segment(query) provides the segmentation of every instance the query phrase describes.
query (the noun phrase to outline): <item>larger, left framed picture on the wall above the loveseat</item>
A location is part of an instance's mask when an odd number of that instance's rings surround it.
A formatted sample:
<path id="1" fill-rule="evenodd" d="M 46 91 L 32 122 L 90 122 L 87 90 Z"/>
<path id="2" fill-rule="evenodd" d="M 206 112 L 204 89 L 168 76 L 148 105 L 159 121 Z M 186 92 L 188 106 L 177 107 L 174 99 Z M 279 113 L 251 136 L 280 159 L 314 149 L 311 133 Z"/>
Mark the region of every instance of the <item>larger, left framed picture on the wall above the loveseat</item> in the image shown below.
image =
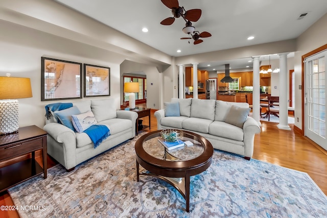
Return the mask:
<path id="1" fill-rule="evenodd" d="M 82 98 L 82 63 L 41 57 L 41 101 Z"/>

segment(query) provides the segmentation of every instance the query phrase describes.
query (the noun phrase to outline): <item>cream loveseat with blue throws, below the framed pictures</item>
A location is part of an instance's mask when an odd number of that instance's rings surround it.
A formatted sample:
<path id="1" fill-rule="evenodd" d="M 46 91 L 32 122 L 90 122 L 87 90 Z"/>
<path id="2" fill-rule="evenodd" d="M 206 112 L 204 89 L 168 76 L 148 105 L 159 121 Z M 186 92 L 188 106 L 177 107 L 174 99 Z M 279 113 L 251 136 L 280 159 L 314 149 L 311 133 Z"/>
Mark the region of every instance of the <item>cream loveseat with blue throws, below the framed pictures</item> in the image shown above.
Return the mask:
<path id="1" fill-rule="evenodd" d="M 71 171 L 75 169 L 76 165 L 133 138 L 137 113 L 116 111 L 114 105 L 114 99 L 86 100 L 73 103 L 73 106 L 77 107 L 80 113 L 91 111 L 97 124 L 103 124 L 109 128 L 110 136 L 96 148 L 86 133 L 75 132 L 71 128 L 55 122 L 52 115 L 50 120 L 46 120 L 43 127 L 49 134 L 48 154 L 68 171 Z"/>

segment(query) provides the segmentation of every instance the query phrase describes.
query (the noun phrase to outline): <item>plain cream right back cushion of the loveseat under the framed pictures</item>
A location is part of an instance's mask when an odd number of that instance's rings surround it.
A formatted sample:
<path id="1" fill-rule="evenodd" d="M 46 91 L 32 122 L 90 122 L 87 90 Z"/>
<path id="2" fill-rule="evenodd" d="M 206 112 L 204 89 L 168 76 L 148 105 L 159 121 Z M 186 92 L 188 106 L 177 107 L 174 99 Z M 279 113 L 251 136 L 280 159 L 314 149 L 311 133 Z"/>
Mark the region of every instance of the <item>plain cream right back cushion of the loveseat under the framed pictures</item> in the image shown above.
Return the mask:
<path id="1" fill-rule="evenodd" d="M 92 100 L 91 109 L 97 121 L 116 118 L 116 107 L 114 99 Z"/>

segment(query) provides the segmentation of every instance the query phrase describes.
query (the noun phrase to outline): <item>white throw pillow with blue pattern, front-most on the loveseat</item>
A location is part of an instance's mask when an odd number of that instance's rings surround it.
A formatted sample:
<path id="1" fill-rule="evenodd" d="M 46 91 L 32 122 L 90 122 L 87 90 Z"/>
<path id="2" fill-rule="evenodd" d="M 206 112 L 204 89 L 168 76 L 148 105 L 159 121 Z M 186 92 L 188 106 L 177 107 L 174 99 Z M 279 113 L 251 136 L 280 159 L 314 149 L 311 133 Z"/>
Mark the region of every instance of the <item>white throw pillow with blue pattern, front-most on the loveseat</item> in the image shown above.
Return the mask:
<path id="1" fill-rule="evenodd" d="M 78 133 L 82 133 L 84 132 L 85 129 L 88 129 L 91 125 L 97 124 L 97 120 L 91 111 L 78 115 L 72 115 L 72 122 L 74 128 Z"/>

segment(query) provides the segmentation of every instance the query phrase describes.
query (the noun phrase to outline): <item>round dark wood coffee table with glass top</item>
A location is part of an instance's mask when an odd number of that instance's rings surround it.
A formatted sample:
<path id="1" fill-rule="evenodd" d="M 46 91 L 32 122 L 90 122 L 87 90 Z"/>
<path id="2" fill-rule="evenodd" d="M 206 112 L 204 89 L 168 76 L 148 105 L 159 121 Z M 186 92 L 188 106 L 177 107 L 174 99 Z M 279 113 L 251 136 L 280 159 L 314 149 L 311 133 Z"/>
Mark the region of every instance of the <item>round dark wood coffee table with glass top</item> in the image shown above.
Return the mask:
<path id="1" fill-rule="evenodd" d="M 136 176 L 148 175 L 164 180 L 175 187 L 186 201 L 190 211 L 190 177 L 206 170 L 212 163 L 214 148 L 204 137 L 183 131 L 183 141 L 194 145 L 168 150 L 162 145 L 161 130 L 140 137 L 135 143 Z M 139 164 L 145 169 L 139 172 Z"/>

